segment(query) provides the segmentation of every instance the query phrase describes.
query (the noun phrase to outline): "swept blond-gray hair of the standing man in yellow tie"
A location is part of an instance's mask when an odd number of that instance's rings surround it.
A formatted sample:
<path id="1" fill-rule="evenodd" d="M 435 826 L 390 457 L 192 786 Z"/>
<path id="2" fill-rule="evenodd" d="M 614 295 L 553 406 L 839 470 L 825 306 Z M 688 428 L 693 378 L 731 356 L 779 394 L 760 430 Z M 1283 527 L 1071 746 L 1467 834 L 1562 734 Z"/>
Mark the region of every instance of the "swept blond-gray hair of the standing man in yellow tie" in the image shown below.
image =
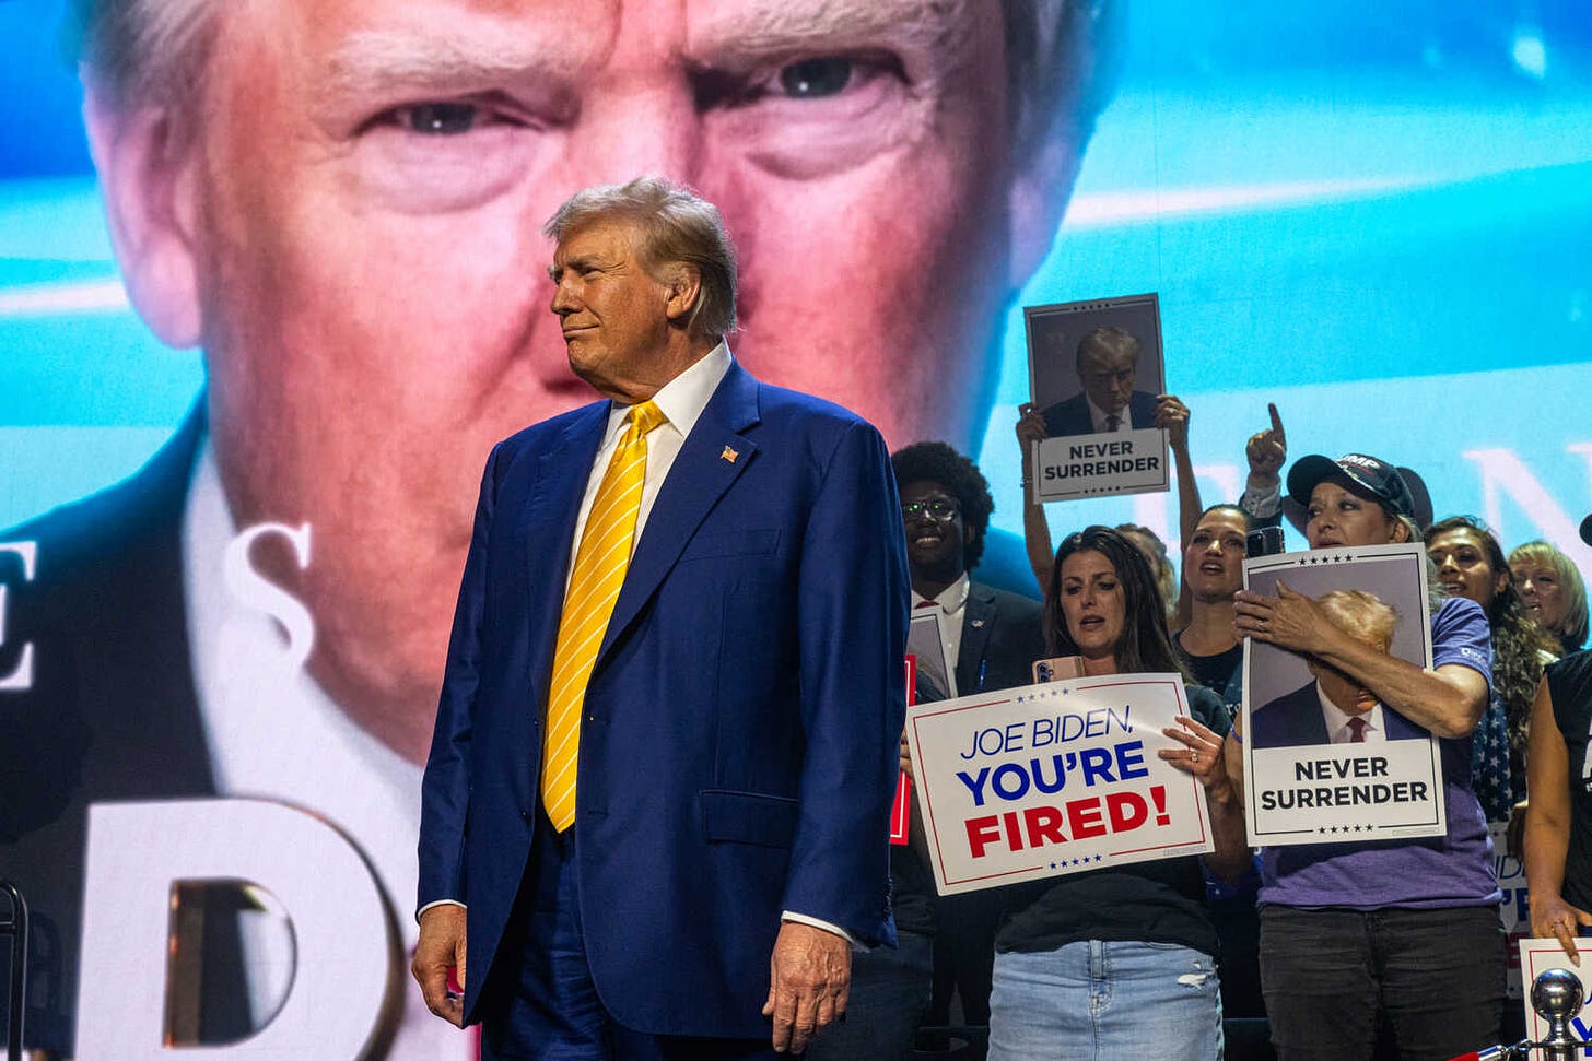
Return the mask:
<path id="1" fill-rule="evenodd" d="M 724 218 L 707 199 L 662 177 L 637 177 L 629 185 L 599 185 L 564 200 L 541 231 L 560 243 L 600 221 L 626 221 L 642 232 L 642 269 L 653 280 L 670 264 L 696 269 L 702 280 L 686 328 L 723 339 L 736 328 L 736 247 Z"/>

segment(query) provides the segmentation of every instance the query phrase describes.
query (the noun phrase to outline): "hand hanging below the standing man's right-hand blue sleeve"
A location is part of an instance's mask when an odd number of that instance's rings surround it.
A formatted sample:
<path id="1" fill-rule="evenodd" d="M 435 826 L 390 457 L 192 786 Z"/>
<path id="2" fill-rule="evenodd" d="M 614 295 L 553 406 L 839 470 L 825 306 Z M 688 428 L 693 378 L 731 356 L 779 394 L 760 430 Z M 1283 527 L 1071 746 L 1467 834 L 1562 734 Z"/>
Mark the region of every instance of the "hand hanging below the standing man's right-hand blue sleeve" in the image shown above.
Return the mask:
<path id="1" fill-rule="evenodd" d="M 834 932 L 786 921 L 774 940 L 769 980 L 763 1015 L 774 1018 L 774 1048 L 801 1053 L 820 1028 L 845 1016 L 852 945 Z"/>

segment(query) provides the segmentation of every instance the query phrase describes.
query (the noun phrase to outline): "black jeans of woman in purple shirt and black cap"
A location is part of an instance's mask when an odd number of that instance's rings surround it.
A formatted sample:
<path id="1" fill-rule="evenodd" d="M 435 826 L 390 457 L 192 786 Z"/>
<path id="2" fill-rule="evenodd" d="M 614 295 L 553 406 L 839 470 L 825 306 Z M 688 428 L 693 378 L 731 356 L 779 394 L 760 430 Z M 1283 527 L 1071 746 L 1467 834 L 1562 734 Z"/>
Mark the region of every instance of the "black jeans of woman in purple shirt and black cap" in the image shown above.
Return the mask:
<path id="1" fill-rule="evenodd" d="M 1277 1056 L 1371 1058 L 1382 1020 L 1406 1061 L 1490 1047 L 1504 954 L 1496 907 L 1261 907 L 1261 989 Z"/>

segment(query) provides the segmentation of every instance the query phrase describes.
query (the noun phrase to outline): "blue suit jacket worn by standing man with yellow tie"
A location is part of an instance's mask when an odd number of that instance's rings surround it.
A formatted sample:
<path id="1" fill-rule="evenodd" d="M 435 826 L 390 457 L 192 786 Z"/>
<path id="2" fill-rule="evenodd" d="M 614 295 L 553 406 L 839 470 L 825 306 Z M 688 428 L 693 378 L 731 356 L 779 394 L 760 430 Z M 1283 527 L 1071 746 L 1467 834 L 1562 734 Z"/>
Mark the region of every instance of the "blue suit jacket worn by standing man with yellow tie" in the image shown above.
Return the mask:
<path id="1" fill-rule="evenodd" d="M 420 905 L 468 907 L 466 1020 L 482 981 L 517 966 L 495 959 L 516 945 L 503 929 L 540 814 L 552 647 L 608 410 L 500 442 L 481 485 L 420 824 Z M 586 692 L 579 908 L 619 1023 L 766 1036 L 782 910 L 892 940 L 907 609 L 884 439 L 731 366 L 657 493 Z"/>

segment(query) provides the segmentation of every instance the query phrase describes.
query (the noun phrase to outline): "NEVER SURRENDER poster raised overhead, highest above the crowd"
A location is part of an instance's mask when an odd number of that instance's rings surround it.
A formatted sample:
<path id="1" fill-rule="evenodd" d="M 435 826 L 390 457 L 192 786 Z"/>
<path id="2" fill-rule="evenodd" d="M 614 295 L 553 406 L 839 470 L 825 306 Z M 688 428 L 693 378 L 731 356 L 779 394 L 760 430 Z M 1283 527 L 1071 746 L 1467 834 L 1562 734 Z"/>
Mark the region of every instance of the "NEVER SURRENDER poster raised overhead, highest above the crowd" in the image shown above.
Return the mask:
<path id="1" fill-rule="evenodd" d="M 1165 490 L 1161 309 L 1154 294 L 1024 309 L 1038 501 Z"/>

